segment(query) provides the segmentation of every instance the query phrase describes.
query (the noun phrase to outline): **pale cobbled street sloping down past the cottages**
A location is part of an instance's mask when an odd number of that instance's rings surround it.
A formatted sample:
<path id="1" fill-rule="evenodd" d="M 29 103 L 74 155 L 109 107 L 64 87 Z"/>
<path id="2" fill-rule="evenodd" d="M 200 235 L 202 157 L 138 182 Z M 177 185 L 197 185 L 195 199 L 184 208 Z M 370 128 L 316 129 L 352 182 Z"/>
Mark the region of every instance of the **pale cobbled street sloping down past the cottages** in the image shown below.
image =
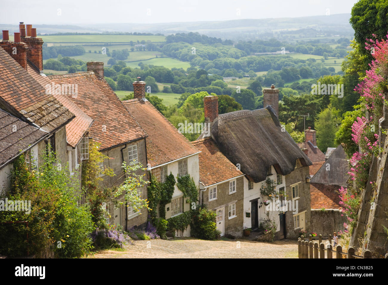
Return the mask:
<path id="1" fill-rule="evenodd" d="M 298 258 L 294 240 L 273 243 L 237 240 L 137 240 L 125 251 L 102 250 L 88 258 Z"/>

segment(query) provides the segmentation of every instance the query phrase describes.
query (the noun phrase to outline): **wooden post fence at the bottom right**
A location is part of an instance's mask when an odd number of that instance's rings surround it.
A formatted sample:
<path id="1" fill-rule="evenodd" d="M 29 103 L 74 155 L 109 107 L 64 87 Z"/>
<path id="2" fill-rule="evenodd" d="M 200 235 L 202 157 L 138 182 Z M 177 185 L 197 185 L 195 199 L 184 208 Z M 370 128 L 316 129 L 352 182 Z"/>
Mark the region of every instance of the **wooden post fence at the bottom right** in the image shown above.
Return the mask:
<path id="1" fill-rule="evenodd" d="M 308 241 L 298 238 L 299 258 L 325 258 L 325 251 L 327 252 L 326 258 L 333 258 L 333 253 L 335 254 L 334 258 L 372 258 L 372 252 L 370 250 L 365 250 L 364 256 L 356 255 L 353 247 L 349 247 L 348 252 L 342 252 L 341 245 L 337 245 L 336 250 L 333 250 L 333 245 L 331 245 L 331 236 L 329 236 L 329 244 L 327 244 L 326 248 L 325 244 L 322 242 L 322 235 L 319 235 L 319 243 L 314 243 L 311 235 L 309 236 Z M 386 255 L 386 257 L 387 256 L 388 255 Z"/>

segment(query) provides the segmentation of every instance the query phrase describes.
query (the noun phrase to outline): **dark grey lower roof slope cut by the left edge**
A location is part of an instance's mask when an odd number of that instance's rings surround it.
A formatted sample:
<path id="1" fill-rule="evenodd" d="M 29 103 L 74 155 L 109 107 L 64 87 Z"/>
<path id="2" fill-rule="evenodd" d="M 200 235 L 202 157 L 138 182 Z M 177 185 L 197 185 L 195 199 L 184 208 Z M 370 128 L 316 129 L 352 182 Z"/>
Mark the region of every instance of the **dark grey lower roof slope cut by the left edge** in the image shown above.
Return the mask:
<path id="1" fill-rule="evenodd" d="M 0 168 L 49 133 L 0 109 Z"/>

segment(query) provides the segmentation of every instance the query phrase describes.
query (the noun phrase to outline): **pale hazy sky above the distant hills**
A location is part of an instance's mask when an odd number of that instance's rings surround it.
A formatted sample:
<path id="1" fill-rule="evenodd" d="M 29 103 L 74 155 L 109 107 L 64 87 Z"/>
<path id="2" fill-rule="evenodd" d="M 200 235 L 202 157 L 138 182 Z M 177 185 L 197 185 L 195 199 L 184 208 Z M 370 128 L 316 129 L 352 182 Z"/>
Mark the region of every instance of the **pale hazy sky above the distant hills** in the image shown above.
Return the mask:
<path id="1" fill-rule="evenodd" d="M 357 0 L 0 0 L 0 24 L 18 24 L 21 21 L 31 24 L 158 23 L 303 17 L 325 15 L 327 12 L 350 13 L 356 2 Z"/>

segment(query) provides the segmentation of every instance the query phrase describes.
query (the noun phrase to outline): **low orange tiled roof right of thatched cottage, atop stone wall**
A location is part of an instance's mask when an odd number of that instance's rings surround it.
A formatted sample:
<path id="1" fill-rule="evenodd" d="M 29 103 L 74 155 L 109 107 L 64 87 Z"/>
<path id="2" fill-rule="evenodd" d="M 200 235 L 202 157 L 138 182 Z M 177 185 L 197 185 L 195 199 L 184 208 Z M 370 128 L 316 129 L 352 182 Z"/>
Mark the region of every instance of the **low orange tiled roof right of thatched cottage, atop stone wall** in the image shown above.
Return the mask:
<path id="1" fill-rule="evenodd" d="M 310 183 L 310 206 L 311 209 L 341 209 L 340 197 L 336 185 L 324 185 Z"/>

